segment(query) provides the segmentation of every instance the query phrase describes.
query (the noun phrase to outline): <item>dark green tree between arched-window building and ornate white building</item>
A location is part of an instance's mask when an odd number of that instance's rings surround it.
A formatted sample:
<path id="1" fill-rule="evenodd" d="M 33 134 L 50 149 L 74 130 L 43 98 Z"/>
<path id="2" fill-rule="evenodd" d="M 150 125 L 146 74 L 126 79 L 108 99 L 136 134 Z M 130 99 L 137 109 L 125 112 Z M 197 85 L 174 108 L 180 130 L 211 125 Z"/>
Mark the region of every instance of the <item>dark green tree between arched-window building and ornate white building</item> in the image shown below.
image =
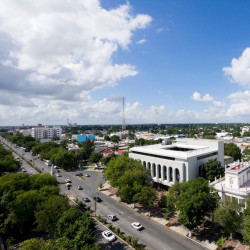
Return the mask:
<path id="1" fill-rule="evenodd" d="M 221 166 L 220 161 L 217 159 L 210 159 L 204 164 L 205 177 L 209 181 L 214 181 L 215 178 L 218 179 L 225 174 L 224 167 Z"/>

